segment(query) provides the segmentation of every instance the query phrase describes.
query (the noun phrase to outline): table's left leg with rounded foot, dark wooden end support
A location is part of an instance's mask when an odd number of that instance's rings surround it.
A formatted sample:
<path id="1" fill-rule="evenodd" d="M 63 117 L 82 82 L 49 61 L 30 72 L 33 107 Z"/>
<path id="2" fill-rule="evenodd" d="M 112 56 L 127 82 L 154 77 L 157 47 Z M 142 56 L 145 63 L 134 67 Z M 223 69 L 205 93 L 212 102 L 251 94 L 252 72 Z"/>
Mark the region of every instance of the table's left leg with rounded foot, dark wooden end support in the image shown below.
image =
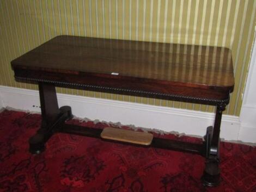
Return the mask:
<path id="1" fill-rule="evenodd" d="M 29 151 L 33 154 L 44 151 L 46 141 L 57 131 L 57 128 L 67 119 L 72 118 L 69 106 L 58 107 L 54 84 L 39 82 L 39 95 L 42 122 L 38 132 L 29 139 Z"/>

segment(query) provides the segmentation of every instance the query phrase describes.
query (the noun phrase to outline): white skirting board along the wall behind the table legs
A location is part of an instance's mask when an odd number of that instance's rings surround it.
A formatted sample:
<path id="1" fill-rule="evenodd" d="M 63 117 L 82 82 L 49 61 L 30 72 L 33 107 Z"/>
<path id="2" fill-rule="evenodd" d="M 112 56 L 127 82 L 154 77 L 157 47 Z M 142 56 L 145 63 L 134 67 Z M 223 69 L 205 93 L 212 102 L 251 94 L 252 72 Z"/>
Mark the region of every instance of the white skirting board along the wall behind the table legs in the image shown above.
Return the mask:
<path id="1" fill-rule="evenodd" d="M 0 86 L 0 97 L 2 107 L 40 112 L 38 91 Z M 71 106 L 72 113 L 76 117 L 120 122 L 123 125 L 154 128 L 165 132 L 175 131 L 188 135 L 203 136 L 206 132 L 206 127 L 213 125 L 215 115 L 214 113 L 101 98 L 65 94 L 57 94 L 57 97 L 59 107 Z M 256 128 L 241 128 L 239 117 L 223 115 L 221 138 L 234 141 L 239 139 L 244 142 L 256 143 Z"/>

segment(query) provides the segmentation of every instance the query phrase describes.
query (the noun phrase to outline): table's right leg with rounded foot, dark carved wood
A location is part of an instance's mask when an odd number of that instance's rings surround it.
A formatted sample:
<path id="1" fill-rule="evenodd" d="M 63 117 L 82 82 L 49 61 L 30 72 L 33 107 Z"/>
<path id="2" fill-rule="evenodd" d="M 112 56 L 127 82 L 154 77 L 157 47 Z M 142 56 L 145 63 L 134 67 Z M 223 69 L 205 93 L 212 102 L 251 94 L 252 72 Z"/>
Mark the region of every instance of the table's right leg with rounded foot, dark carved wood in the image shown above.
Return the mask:
<path id="1" fill-rule="evenodd" d="M 216 186 L 220 183 L 220 127 L 222 112 L 225 104 L 220 103 L 216 108 L 214 127 L 208 127 L 205 135 L 205 169 L 201 178 L 206 186 Z"/>

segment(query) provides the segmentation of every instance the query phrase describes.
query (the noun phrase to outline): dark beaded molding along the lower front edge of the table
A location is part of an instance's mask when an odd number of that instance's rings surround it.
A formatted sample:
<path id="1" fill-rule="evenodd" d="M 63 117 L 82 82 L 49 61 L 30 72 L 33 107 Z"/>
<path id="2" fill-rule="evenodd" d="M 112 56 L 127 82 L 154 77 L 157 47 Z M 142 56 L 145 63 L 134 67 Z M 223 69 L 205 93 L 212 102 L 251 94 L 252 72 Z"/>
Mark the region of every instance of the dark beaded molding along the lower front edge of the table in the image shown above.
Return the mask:
<path id="1" fill-rule="evenodd" d="M 191 101 L 201 101 L 201 102 L 209 102 L 211 104 L 228 104 L 229 98 L 225 100 L 215 100 L 215 99 L 208 99 L 208 98 L 199 98 L 199 97 L 191 97 L 191 96 L 182 96 L 182 95 L 172 95 L 172 94 L 162 94 L 160 92 L 150 92 L 150 91 L 142 91 L 142 90 L 134 90 L 134 89 L 123 89 L 123 88 L 112 88 L 108 86 L 98 86 L 98 85 L 87 85 L 87 84 L 80 84 L 80 83 L 69 83 L 69 82 L 60 82 L 57 80 L 48 80 L 48 79 L 39 79 L 39 78 L 29 78 L 29 77 L 19 77 L 14 76 L 17 80 L 27 80 L 31 82 L 42 82 L 42 83 L 53 83 L 57 85 L 66 85 L 66 86 L 78 86 L 82 88 L 94 88 L 99 90 L 112 90 L 112 91 L 122 91 L 122 92 L 133 92 L 137 94 L 144 94 L 144 95 L 155 95 L 155 96 L 163 96 L 163 97 L 170 97 L 173 98 L 173 101 L 176 99 L 184 99 L 184 100 L 191 100 Z M 184 101 L 184 102 L 186 102 Z"/>

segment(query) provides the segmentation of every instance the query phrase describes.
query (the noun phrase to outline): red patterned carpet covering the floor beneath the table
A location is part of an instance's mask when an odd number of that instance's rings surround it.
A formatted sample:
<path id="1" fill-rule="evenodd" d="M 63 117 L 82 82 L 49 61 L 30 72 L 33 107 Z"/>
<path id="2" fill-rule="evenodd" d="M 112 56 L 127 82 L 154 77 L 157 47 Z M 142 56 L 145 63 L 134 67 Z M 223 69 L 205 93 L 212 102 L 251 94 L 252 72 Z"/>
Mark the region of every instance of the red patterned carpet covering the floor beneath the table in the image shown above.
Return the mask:
<path id="1" fill-rule="evenodd" d="M 107 126 L 75 120 L 70 123 Z M 190 153 L 56 134 L 44 153 L 33 156 L 28 153 L 28 138 L 39 126 L 38 114 L 0 113 L 0 191 L 256 191 L 255 147 L 221 143 L 221 185 L 205 188 L 200 184 L 204 158 Z M 176 139 L 200 142 L 191 137 Z"/>

